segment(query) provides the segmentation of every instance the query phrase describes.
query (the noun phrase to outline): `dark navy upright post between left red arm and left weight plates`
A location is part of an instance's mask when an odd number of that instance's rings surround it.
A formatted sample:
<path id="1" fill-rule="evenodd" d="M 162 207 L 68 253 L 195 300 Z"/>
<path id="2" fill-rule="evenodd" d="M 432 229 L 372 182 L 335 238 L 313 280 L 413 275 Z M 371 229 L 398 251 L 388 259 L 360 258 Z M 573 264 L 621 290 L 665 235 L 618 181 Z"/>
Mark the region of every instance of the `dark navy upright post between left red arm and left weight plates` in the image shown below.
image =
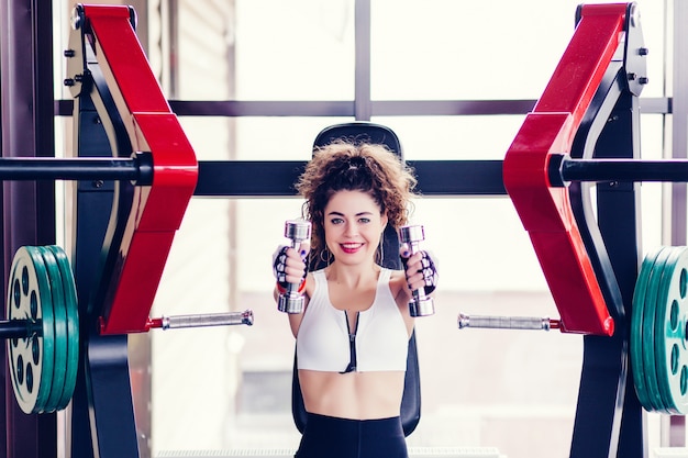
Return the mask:
<path id="1" fill-rule="evenodd" d="M 73 43 L 74 45 L 74 43 Z M 90 56 L 90 51 L 87 54 Z M 87 59 L 93 63 L 92 56 Z M 75 152 L 78 157 L 103 157 L 132 153 L 131 144 L 110 88 L 100 69 L 89 64 L 88 83 L 75 99 Z M 99 107 L 99 108 L 97 108 Z M 113 146 L 116 145 L 115 152 Z M 121 150 L 120 150 L 121 149 Z M 120 234 L 126 220 L 116 209 L 131 205 L 122 192 L 127 180 L 82 180 L 75 187 L 73 269 L 79 302 L 79 370 L 71 400 L 70 458 L 138 457 L 136 423 L 129 373 L 127 336 L 100 335 L 103 288 L 110 279 L 106 256 L 112 234 Z M 124 202 L 124 203 L 123 203 Z M 121 238 L 112 244 L 118 245 Z M 118 245 L 119 246 L 119 245 Z"/>

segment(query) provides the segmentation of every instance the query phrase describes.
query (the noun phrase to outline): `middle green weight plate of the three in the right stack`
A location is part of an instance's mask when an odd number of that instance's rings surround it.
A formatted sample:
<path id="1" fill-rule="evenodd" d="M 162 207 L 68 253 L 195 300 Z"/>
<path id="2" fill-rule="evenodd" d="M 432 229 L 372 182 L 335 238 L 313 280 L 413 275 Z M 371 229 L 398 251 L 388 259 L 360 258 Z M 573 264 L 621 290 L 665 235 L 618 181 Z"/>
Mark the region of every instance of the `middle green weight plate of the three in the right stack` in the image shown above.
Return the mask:
<path id="1" fill-rule="evenodd" d="M 655 259 L 655 264 L 653 265 L 647 279 L 647 291 L 645 292 L 645 303 L 643 306 L 643 367 L 645 369 L 643 375 L 645 377 L 645 386 L 647 387 L 652 409 L 653 411 L 661 412 L 663 412 L 666 406 L 664 405 L 659 393 L 659 383 L 657 381 L 657 373 L 655 369 L 657 367 L 657 362 L 653 336 L 659 279 L 662 278 L 662 271 L 664 270 L 669 252 L 670 249 L 668 247 L 663 247 Z"/>

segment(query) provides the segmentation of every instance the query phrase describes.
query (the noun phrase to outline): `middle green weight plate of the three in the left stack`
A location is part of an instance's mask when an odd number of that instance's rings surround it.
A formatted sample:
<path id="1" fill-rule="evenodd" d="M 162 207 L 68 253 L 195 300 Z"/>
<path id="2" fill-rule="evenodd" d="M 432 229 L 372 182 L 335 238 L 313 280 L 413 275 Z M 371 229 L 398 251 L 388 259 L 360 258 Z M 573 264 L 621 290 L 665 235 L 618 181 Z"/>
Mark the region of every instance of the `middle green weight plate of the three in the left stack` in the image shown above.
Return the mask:
<path id="1" fill-rule="evenodd" d="M 57 403 L 65 389 L 65 375 L 67 372 L 67 310 L 65 306 L 65 292 L 63 279 L 53 252 L 40 246 L 38 253 L 43 257 L 43 264 L 47 271 L 53 297 L 54 329 L 55 329 L 55 361 L 53 365 L 53 382 L 51 393 L 45 401 L 42 413 L 52 413 L 57 409 Z"/>

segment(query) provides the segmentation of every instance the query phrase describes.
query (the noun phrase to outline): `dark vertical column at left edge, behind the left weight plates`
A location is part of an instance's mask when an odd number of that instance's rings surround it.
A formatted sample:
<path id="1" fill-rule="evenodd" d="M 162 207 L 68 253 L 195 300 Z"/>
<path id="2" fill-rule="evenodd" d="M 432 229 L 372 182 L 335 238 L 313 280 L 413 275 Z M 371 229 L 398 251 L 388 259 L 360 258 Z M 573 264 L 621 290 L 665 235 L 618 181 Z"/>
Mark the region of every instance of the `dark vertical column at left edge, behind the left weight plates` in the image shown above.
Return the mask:
<path id="1" fill-rule="evenodd" d="M 2 156 L 53 156 L 53 13 L 49 0 L 12 0 L 0 3 L 0 74 L 2 101 Z M 3 278 L 22 245 L 55 243 L 55 192 L 51 182 L 3 185 Z M 7 294 L 3 294 L 5 297 Z M 4 301 L 1 301 L 4 316 Z M 53 458 L 57 455 L 54 414 L 26 415 L 7 378 L 0 353 L 3 390 L 3 433 L 0 447 L 8 458 Z"/>

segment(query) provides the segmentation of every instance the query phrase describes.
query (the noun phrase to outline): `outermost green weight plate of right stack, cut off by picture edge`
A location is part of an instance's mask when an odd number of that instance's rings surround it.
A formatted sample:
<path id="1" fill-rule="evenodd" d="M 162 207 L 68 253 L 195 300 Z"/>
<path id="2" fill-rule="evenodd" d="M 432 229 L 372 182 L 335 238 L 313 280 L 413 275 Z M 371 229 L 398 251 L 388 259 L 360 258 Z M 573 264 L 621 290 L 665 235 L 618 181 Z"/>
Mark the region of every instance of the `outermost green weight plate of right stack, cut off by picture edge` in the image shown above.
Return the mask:
<path id="1" fill-rule="evenodd" d="M 657 305 L 664 321 L 656 326 L 657 376 L 662 394 L 670 413 L 688 413 L 688 348 L 686 314 L 688 313 L 688 249 L 674 248 L 675 255 L 665 267 Z"/>

